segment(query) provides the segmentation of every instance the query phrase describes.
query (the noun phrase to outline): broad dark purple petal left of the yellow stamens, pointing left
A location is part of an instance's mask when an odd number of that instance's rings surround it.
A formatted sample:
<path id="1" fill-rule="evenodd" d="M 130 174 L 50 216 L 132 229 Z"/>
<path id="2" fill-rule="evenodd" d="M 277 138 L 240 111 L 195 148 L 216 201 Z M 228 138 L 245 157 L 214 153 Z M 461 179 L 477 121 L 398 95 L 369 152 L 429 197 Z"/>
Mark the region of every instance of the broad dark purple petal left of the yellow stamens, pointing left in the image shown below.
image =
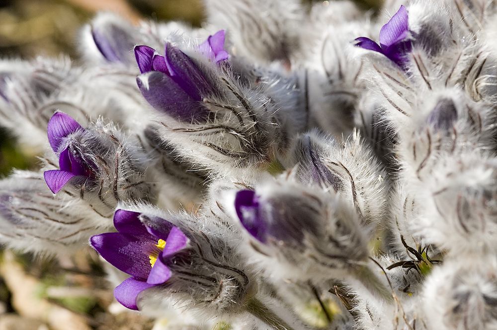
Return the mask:
<path id="1" fill-rule="evenodd" d="M 157 241 L 150 236 L 128 233 L 105 233 L 90 238 L 91 246 L 117 269 L 132 276 L 147 278 L 150 273 L 149 256 L 157 252 Z"/>

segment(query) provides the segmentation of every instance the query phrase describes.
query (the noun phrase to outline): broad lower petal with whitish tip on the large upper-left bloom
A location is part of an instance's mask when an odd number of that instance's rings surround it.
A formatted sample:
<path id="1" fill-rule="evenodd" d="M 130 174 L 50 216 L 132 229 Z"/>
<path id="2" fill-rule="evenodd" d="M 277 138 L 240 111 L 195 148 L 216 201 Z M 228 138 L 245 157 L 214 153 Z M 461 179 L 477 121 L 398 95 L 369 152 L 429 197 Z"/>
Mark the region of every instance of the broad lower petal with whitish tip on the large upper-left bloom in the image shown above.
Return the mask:
<path id="1" fill-rule="evenodd" d="M 160 112 L 185 122 L 205 121 L 209 115 L 207 109 L 162 72 L 142 74 L 136 81 L 147 102 Z"/>

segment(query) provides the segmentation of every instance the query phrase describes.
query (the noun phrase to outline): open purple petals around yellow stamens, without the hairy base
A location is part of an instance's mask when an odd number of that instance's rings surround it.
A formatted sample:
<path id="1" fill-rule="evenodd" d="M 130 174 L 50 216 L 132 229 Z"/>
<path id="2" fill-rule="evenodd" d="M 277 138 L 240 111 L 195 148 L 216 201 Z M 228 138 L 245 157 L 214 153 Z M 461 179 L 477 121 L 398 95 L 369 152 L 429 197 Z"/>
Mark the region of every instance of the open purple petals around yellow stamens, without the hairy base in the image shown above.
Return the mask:
<path id="1" fill-rule="evenodd" d="M 164 219 L 161 230 L 140 222 L 140 213 L 117 210 L 114 226 L 117 233 L 90 238 L 91 246 L 114 267 L 132 277 L 119 284 L 114 296 L 123 306 L 137 310 L 138 295 L 153 286 L 164 284 L 172 276 L 167 266 L 188 245 L 188 238 Z"/>

